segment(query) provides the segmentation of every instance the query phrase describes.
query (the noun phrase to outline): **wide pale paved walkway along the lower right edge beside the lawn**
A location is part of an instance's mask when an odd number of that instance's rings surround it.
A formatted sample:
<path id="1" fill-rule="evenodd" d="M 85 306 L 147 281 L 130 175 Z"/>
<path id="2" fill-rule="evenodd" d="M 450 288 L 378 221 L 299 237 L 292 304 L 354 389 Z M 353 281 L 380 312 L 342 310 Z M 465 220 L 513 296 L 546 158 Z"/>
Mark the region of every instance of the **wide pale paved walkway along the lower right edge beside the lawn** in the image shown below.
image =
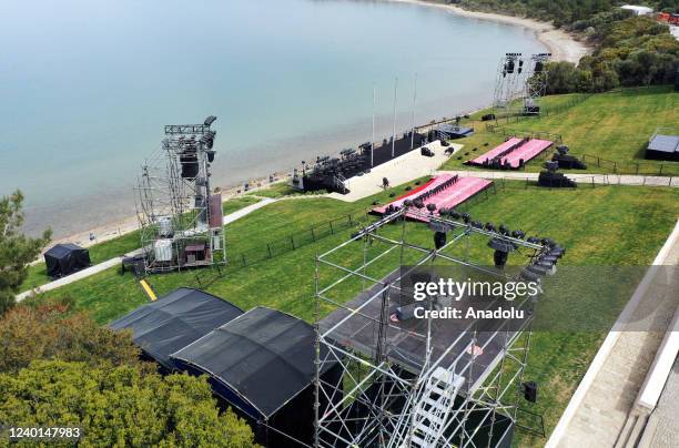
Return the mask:
<path id="1" fill-rule="evenodd" d="M 679 223 L 653 262 L 658 266 L 678 264 Z M 646 320 L 656 330 L 608 334 L 547 447 L 622 447 L 642 429 L 645 420 L 628 416 L 634 416 L 635 403 L 665 336 L 659 329 L 668 328 L 678 307 L 677 272 L 648 271 L 618 323 Z"/>

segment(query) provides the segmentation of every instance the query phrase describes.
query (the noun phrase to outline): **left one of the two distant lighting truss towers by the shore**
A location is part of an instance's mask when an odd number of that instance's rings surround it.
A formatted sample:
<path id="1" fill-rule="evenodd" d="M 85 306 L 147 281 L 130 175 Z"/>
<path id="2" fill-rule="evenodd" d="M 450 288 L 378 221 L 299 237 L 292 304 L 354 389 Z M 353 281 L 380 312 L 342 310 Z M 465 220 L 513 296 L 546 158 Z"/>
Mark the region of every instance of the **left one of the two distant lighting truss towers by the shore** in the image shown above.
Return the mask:
<path id="1" fill-rule="evenodd" d="M 527 71 L 521 53 L 505 53 L 497 67 L 493 113 L 496 118 L 511 116 L 520 111 Z"/>

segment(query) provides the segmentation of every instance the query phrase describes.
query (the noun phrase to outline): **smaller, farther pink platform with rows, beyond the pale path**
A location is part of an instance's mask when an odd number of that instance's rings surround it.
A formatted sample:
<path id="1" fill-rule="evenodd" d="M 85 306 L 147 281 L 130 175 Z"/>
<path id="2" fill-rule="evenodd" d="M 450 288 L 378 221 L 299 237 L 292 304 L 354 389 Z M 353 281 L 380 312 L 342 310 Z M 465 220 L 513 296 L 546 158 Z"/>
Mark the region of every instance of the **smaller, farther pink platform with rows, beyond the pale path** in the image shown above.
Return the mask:
<path id="1" fill-rule="evenodd" d="M 537 157 L 551 145 L 554 145 L 554 142 L 549 140 L 513 136 L 487 153 L 466 162 L 466 164 L 488 167 L 497 165 L 498 167 L 516 170 L 521 166 L 521 161 L 528 163 L 528 161 Z"/>

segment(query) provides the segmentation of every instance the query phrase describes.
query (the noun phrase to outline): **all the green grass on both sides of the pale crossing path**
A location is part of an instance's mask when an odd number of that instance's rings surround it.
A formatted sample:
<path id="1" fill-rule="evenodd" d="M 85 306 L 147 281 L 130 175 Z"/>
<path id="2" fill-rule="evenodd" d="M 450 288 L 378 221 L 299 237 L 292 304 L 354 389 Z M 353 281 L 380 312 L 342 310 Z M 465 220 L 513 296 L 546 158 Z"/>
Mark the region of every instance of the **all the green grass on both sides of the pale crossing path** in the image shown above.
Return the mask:
<path id="1" fill-rule="evenodd" d="M 601 157 L 631 162 L 639 156 L 639 149 L 656 125 L 676 121 L 677 94 L 668 89 L 650 89 L 631 95 L 616 92 L 581 98 L 572 103 L 574 95 L 560 95 L 545 100 L 554 111 L 540 119 L 511 123 L 525 131 L 561 133 L 574 153 L 598 154 Z M 477 118 L 477 116 L 473 116 Z M 652 118 L 649 120 L 649 118 Z M 476 123 L 474 136 L 460 140 L 465 144 L 463 160 L 454 156 L 445 169 L 458 169 L 464 160 L 487 151 L 503 140 L 500 134 L 484 132 Z M 487 143 L 487 145 L 486 145 Z M 473 151 L 477 147 L 477 151 Z M 469 152 L 468 155 L 464 155 Z M 529 166 L 535 170 L 537 164 Z M 592 171 L 597 171 L 594 170 Z M 411 183 L 413 186 L 414 183 Z M 276 241 L 286 241 L 290 235 L 306 232 L 310 226 L 327 222 L 348 213 L 364 214 L 374 201 L 386 202 L 391 193 L 399 194 L 405 185 L 379 193 L 356 203 L 346 203 L 326 197 L 303 197 L 278 201 L 260 208 L 226 226 L 227 251 L 237 254 L 262 251 Z M 284 184 L 253 195 L 281 197 L 290 194 Z M 567 248 L 561 262 L 571 266 L 643 266 L 651 263 L 679 216 L 679 190 L 667 187 L 600 186 L 577 190 L 545 190 L 520 182 L 506 182 L 487 198 L 465 208 L 474 220 L 504 223 L 510 228 L 521 228 L 529 235 L 549 236 Z M 237 202 L 226 203 L 225 210 L 235 211 L 255 197 L 244 196 Z M 399 226 L 388 226 L 386 234 L 397 235 Z M 433 246 L 432 232 L 422 224 L 406 224 L 408 240 L 419 245 Z M 263 259 L 245 267 L 235 265 L 227 269 L 186 271 L 154 275 L 149 278 L 159 295 L 179 286 L 200 287 L 224 297 L 243 309 L 256 305 L 271 306 L 292 313 L 306 320 L 313 319 L 314 258 L 343 241 L 353 230 L 343 228 L 321 237 L 294 251 Z M 138 236 L 131 234 L 120 241 L 102 243 L 91 250 L 92 258 L 114 256 L 126 247 L 136 247 Z M 358 247 L 358 246 L 356 246 Z M 369 251 L 377 250 L 373 247 Z M 454 250 L 452 250 L 454 251 Z M 491 252 L 485 244 L 470 247 L 474 259 L 491 263 Z M 353 252 L 353 253 L 348 253 Z M 347 251 L 342 255 L 345 264 L 357 264 L 361 251 Z M 397 267 L 398 259 L 387 256 L 375 263 L 373 275 L 381 275 Z M 31 278 L 39 277 L 38 267 L 31 268 Z M 327 283 L 336 274 L 320 272 L 321 281 Z M 28 283 L 28 282 L 27 282 Z M 358 291 L 357 284 L 338 289 L 344 301 Z M 634 286 L 634 285 L 632 285 Z M 629 291 L 627 291 L 629 293 Z M 107 324 L 148 298 L 131 274 L 121 274 L 111 268 L 75 284 L 38 296 L 32 302 L 48 298 L 70 297 L 75 309 L 89 313 L 98 323 Z M 612 304 L 617 313 L 629 295 L 622 294 Z M 597 309 L 596 304 L 591 307 Z M 327 308 L 324 308 L 327 310 Z M 580 312 L 587 313 L 590 308 Z M 539 383 L 537 404 L 525 403 L 521 407 L 541 414 L 547 434 L 551 431 L 568 400 L 572 396 L 602 338 L 601 332 L 539 332 L 533 336 L 526 378 Z M 541 446 L 545 440 L 517 432 L 515 445 Z"/>

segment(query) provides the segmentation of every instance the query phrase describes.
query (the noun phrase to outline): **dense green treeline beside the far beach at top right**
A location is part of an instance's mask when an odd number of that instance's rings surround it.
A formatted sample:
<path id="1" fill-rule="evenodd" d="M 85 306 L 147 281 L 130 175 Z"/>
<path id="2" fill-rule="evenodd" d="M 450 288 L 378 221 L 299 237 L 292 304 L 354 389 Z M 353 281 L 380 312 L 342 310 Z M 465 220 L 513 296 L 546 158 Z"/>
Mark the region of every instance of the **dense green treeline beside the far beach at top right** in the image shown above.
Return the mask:
<path id="1" fill-rule="evenodd" d="M 551 21 L 594 47 L 577 65 L 549 63 L 547 93 L 602 92 L 617 86 L 672 83 L 679 71 L 679 41 L 653 17 L 634 17 L 611 0 L 459 0 L 470 10 Z M 679 0 L 641 2 L 679 12 Z"/>

